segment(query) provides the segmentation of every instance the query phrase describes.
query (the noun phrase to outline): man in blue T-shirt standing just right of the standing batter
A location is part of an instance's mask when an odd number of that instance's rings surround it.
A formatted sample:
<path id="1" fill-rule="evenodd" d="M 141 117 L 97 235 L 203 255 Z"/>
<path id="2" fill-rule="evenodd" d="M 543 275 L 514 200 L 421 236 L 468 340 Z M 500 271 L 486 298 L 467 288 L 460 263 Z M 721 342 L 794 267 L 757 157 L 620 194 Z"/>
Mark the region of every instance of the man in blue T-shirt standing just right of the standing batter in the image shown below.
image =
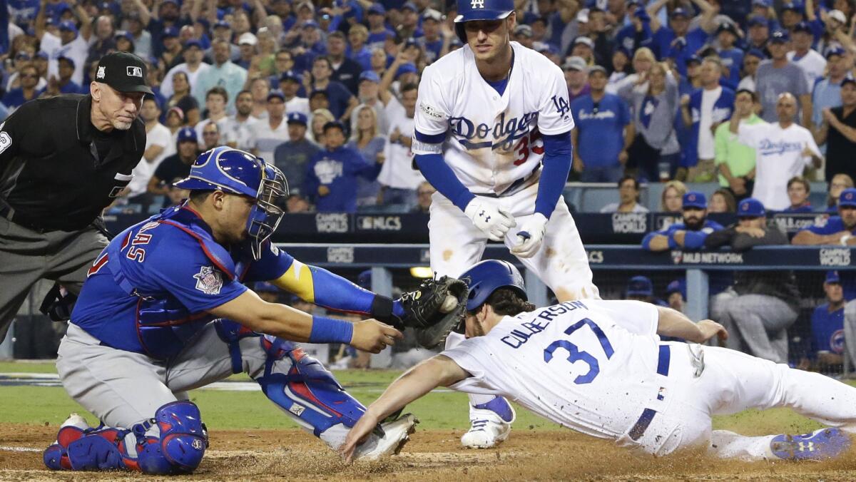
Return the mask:
<path id="1" fill-rule="evenodd" d="M 618 182 L 635 135 L 633 119 L 624 99 L 604 91 L 605 68 L 592 67 L 588 77 L 591 93 L 571 103 L 574 170 L 583 182 Z"/>

